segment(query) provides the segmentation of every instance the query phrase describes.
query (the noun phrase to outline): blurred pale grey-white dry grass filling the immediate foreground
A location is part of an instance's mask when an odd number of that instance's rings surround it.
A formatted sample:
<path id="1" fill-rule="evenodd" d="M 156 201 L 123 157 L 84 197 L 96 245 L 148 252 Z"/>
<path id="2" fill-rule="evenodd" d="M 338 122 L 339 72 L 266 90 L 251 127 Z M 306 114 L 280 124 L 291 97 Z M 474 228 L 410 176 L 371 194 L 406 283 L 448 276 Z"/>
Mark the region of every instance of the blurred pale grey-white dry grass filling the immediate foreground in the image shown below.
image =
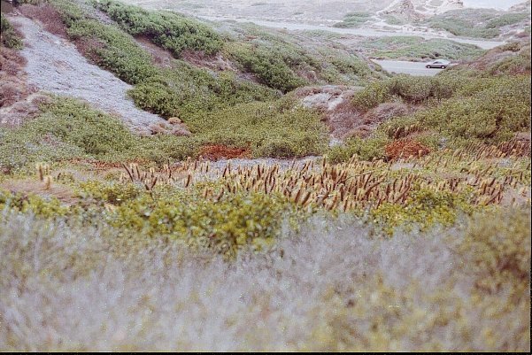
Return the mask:
<path id="1" fill-rule="evenodd" d="M 520 240 L 530 215 L 512 213 L 464 222 Z M 491 269 L 460 253 L 466 229 L 382 238 L 317 217 L 276 251 L 227 263 L 97 223 L 0 219 L 4 351 L 530 349 L 529 275 L 478 288 Z"/>

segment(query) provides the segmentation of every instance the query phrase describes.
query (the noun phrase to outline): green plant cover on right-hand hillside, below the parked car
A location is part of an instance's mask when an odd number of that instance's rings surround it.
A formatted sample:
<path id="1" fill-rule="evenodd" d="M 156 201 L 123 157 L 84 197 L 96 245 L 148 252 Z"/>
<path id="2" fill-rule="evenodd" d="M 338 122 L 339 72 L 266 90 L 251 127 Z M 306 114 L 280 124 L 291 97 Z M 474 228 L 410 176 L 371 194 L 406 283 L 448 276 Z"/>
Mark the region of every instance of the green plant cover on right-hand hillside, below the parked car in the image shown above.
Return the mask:
<path id="1" fill-rule="evenodd" d="M 439 150 L 529 136 L 530 75 L 527 65 L 520 65 L 530 57 L 529 47 L 522 43 L 506 47 L 435 77 L 397 75 L 367 85 L 351 99 L 350 110 L 361 122 L 375 120 L 375 112 L 385 105 L 397 106 L 397 113 L 378 120 L 366 137 L 348 138 L 329 155 L 335 160 L 349 159 L 354 153 L 385 158 L 386 145 L 397 139 Z"/>

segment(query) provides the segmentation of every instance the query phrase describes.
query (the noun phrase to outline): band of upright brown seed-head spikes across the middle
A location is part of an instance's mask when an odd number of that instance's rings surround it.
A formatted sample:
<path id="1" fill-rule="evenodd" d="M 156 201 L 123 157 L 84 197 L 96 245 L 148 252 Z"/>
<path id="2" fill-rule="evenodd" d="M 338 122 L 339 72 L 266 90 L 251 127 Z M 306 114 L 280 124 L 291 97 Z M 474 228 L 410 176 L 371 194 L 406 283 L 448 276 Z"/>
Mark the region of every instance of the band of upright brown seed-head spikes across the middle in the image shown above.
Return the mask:
<path id="1" fill-rule="evenodd" d="M 210 180 L 221 182 L 222 194 L 223 190 L 226 193 L 281 194 L 304 207 L 314 205 L 343 212 L 378 209 L 385 204 L 408 205 L 420 190 L 462 195 L 473 205 L 501 204 L 507 191 L 517 189 L 521 198 L 519 201 L 514 198 L 513 204 L 524 203 L 528 196 L 529 165 L 528 168 L 520 167 L 516 161 L 501 175 L 497 160 L 485 161 L 507 157 L 497 147 L 444 150 L 427 155 L 427 149 L 419 143 L 397 142 L 401 144 L 394 146 L 397 148 L 393 150 L 396 160 L 388 162 L 367 162 L 356 156 L 336 165 L 329 164 L 326 159 L 304 164 L 296 164 L 294 160 L 288 169 L 281 170 L 277 164 L 233 167 L 230 162 L 223 168 L 214 168 L 209 161 L 200 158 L 176 166 L 173 175 L 161 172 L 159 181 L 170 184 L 181 181 L 181 184 L 188 180 L 197 181 L 197 177 L 208 173 Z M 397 158 L 403 159 L 397 161 Z M 397 169 L 401 169 L 399 173 Z M 206 196 L 220 193 L 210 189 Z"/>

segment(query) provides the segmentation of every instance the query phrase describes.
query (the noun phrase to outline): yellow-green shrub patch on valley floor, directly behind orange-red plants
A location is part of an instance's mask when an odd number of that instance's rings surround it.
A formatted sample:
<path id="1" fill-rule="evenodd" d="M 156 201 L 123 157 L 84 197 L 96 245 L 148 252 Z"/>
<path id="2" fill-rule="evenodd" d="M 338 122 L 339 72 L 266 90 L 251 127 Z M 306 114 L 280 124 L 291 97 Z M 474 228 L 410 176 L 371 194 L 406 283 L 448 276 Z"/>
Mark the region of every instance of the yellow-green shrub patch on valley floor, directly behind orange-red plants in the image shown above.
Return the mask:
<path id="1" fill-rule="evenodd" d="M 320 116 L 312 110 L 297 107 L 291 98 L 199 112 L 191 117 L 188 125 L 206 143 L 249 147 L 255 157 L 319 154 L 327 136 Z"/>

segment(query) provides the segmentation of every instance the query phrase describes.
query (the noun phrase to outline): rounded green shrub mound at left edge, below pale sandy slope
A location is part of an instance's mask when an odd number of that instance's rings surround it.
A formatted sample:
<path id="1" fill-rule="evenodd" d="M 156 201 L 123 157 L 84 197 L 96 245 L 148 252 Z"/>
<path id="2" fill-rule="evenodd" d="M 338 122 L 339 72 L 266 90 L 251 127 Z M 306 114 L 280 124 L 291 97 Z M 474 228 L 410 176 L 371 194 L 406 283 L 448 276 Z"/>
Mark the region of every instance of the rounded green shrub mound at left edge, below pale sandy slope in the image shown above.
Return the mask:
<path id="1" fill-rule="evenodd" d="M 43 113 L 16 129 L 0 130 L 0 166 L 25 166 L 40 160 L 104 158 L 126 153 L 132 135 L 120 120 L 73 99 L 57 99 Z"/>

